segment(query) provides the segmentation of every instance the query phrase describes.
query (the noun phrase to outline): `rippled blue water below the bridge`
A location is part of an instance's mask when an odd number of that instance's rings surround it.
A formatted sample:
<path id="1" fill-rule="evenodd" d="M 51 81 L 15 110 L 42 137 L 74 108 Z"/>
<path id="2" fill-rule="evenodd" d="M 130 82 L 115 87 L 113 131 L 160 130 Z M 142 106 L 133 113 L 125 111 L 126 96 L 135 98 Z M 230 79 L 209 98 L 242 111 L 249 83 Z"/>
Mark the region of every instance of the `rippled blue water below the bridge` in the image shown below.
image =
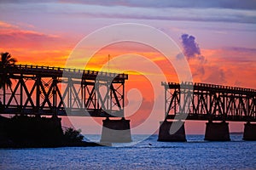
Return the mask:
<path id="1" fill-rule="evenodd" d="M 186 143 L 166 143 L 154 135 L 126 147 L 1 149 L 0 169 L 256 169 L 256 142 L 241 138 L 206 142 L 188 135 Z"/>

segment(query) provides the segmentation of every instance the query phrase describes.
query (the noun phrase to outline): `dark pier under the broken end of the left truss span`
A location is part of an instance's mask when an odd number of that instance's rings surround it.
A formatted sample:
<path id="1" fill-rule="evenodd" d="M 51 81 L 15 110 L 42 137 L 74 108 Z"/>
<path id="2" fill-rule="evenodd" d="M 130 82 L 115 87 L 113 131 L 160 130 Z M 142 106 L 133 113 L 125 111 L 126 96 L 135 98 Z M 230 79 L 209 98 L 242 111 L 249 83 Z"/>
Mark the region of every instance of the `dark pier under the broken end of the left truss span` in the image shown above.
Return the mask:
<path id="1" fill-rule="evenodd" d="M 130 120 L 110 120 L 102 121 L 101 143 L 128 143 L 131 142 Z"/>

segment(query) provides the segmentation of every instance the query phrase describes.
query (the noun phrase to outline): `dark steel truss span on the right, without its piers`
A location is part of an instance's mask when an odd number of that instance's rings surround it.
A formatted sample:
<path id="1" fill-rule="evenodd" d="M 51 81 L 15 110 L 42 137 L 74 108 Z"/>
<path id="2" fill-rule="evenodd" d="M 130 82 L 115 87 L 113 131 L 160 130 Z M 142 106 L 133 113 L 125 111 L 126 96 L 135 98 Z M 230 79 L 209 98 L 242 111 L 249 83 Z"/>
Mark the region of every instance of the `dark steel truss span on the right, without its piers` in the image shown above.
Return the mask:
<path id="1" fill-rule="evenodd" d="M 161 82 L 166 119 L 256 122 L 256 90 L 206 83 Z"/>

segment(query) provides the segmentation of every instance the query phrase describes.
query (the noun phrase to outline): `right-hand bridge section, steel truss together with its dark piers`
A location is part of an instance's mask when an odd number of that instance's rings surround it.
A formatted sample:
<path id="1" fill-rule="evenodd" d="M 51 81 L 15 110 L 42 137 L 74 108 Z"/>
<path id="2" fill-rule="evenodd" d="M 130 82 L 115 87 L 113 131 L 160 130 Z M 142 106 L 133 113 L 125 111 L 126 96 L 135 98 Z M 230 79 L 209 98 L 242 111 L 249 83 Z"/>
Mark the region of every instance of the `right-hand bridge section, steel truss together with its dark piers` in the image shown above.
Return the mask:
<path id="1" fill-rule="evenodd" d="M 185 120 L 208 121 L 206 140 L 230 140 L 228 122 L 247 122 L 243 139 L 256 140 L 256 126 L 252 123 L 256 122 L 255 89 L 193 82 L 161 85 L 165 88 L 166 119 L 160 125 L 160 141 L 185 141 Z M 179 124 L 175 133 L 161 130 L 173 122 Z"/>

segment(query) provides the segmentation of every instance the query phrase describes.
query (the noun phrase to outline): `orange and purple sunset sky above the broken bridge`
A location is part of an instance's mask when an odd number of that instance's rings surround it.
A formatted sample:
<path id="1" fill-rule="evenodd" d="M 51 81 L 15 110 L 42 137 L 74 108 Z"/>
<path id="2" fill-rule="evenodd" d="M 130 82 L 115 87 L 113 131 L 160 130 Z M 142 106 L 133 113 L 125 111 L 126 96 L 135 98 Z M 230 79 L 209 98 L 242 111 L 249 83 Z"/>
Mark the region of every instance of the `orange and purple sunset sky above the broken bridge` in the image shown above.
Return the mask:
<path id="1" fill-rule="evenodd" d="M 188 57 L 195 82 L 256 88 L 255 0 L 72 2 L 0 1 L 0 51 L 12 54 L 18 64 L 65 66 L 73 48 L 91 32 L 113 24 L 138 23 L 163 31 L 181 49 L 183 34 L 195 37 L 201 53 Z M 147 56 L 169 75 L 168 81 L 177 82 L 164 56 L 143 44 L 123 42 L 104 47 L 91 60 L 90 68 L 98 70 L 108 61 L 108 54 L 113 58 Z M 110 67 L 121 70 L 114 62 Z M 129 77 L 128 88 L 143 86 L 143 79 L 133 78 Z M 142 94 L 149 105 L 152 95 L 147 89 L 143 88 Z M 202 132 L 196 124 L 192 126 L 190 133 Z M 234 131 L 241 130 L 241 126 L 231 126 Z"/>

